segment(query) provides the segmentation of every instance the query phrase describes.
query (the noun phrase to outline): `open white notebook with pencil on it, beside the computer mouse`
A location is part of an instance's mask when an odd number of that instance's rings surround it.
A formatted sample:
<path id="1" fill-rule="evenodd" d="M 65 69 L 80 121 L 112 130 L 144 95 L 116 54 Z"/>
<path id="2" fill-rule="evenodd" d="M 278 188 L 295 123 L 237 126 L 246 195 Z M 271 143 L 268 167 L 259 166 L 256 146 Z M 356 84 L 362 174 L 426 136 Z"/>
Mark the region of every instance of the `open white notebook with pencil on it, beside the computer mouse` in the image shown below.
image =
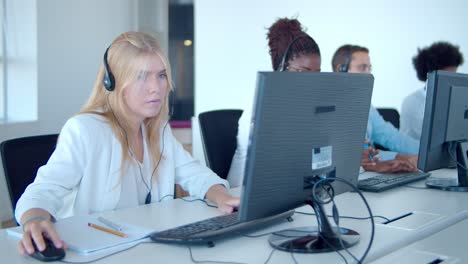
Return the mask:
<path id="1" fill-rule="evenodd" d="M 88 226 L 88 223 L 105 226 L 97 219 L 98 216 L 72 216 L 55 223 L 55 228 L 70 250 L 78 254 L 90 254 L 99 250 L 109 249 L 126 243 L 135 244 L 138 240 L 148 237 L 155 230 L 119 222 L 122 233 L 126 237 L 116 236 Z M 7 229 L 11 236 L 21 238 L 22 227 Z"/>

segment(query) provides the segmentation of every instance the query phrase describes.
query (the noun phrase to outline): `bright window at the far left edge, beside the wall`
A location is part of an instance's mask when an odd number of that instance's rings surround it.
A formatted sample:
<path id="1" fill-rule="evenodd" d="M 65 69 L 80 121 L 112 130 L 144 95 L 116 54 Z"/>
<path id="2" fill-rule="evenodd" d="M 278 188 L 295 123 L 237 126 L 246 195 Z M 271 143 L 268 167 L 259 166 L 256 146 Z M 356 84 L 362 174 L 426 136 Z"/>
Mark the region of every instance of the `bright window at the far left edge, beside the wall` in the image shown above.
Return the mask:
<path id="1" fill-rule="evenodd" d="M 0 6 L 0 123 L 37 120 L 36 1 Z"/>

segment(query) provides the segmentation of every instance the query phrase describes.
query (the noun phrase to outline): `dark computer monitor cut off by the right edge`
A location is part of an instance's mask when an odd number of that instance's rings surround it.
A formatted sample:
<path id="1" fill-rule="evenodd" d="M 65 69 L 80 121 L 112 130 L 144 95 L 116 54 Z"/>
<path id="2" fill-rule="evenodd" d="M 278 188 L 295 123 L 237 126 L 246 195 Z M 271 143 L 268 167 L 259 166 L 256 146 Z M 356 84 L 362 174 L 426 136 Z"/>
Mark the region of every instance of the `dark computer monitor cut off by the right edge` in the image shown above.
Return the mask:
<path id="1" fill-rule="evenodd" d="M 457 167 L 458 179 L 429 178 L 428 187 L 468 191 L 468 75 L 447 71 L 428 74 L 418 168 Z"/>

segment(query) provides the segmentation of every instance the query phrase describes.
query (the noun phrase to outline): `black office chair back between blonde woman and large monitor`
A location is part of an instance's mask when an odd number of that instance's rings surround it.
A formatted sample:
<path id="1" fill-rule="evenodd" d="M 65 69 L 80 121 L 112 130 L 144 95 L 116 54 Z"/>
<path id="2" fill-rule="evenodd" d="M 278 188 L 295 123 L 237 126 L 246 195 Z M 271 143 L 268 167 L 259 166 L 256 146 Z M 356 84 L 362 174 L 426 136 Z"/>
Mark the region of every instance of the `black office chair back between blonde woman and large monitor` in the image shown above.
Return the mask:
<path id="1" fill-rule="evenodd" d="M 242 110 L 226 109 L 200 113 L 198 121 L 207 166 L 226 179 L 237 147 L 238 121 Z"/>

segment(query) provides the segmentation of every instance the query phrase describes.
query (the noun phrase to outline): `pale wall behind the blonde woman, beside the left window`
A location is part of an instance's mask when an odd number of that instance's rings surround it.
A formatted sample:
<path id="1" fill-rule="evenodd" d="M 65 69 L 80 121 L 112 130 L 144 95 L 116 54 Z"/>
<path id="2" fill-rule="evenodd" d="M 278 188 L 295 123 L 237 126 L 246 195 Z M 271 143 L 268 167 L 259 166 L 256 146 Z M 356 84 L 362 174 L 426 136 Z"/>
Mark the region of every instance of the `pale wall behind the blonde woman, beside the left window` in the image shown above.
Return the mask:
<path id="1" fill-rule="evenodd" d="M 37 1 L 38 121 L 0 125 L 0 141 L 58 133 L 89 96 L 109 43 L 134 21 L 132 0 Z M 9 218 L 0 170 L 0 221 Z"/>

